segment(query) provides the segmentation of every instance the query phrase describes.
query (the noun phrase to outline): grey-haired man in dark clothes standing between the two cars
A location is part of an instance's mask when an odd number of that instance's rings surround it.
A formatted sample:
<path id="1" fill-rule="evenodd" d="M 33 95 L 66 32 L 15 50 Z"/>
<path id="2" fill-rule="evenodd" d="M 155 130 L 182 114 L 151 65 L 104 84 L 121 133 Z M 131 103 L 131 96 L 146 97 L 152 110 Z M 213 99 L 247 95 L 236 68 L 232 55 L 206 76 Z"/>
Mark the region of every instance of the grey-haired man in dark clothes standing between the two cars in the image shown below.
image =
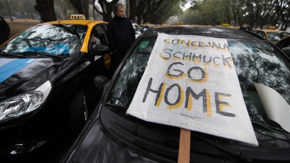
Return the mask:
<path id="1" fill-rule="evenodd" d="M 113 13 L 115 16 L 109 21 L 107 35 L 109 48 L 114 53 L 116 66 L 118 66 L 135 40 L 135 30 L 131 21 L 125 17 L 123 4 L 115 4 Z"/>

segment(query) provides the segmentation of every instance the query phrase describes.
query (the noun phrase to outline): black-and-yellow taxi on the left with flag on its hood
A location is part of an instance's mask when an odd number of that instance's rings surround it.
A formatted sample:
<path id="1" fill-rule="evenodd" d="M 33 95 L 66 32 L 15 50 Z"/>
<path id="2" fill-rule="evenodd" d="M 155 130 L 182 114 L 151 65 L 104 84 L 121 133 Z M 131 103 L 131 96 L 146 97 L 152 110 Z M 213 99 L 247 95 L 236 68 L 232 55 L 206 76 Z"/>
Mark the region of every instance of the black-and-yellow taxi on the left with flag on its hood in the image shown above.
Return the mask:
<path id="1" fill-rule="evenodd" d="M 31 152 L 65 129 L 81 131 L 99 96 L 94 78 L 114 72 L 106 26 L 41 23 L 0 46 L 0 158 Z"/>

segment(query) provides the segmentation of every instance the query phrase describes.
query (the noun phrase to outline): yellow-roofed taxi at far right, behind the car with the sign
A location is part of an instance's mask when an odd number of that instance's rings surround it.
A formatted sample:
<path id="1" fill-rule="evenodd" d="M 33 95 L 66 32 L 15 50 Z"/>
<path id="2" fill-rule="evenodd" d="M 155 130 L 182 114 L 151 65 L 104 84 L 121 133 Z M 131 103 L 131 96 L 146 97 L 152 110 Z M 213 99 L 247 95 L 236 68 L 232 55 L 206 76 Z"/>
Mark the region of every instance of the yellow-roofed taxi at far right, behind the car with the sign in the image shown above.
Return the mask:
<path id="1" fill-rule="evenodd" d="M 252 29 L 250 31 L 273 43 L 290 35 L 286 31 L 275 30 L 275 27 L 271 26 L 268 29 Z"/>

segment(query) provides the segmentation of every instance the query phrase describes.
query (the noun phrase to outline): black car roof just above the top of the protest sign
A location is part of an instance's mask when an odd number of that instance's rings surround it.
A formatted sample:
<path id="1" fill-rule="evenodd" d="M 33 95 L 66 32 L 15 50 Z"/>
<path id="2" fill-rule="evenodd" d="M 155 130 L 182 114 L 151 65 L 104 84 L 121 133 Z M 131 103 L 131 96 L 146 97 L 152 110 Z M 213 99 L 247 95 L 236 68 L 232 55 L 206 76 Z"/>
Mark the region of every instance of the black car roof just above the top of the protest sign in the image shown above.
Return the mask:
<path id="1" fill-rule="evenodd" d="M 259 39 L 260 36 L 242 29 L 221 27 L 221 26 L 193 26 L 193 25 L 167 25 L 155 26 L 146 30 L 145 36 L 157 36 L 158 33 L 171 35 L 198 35 L 218 38 L 241 38 L 241 39 Z"/>

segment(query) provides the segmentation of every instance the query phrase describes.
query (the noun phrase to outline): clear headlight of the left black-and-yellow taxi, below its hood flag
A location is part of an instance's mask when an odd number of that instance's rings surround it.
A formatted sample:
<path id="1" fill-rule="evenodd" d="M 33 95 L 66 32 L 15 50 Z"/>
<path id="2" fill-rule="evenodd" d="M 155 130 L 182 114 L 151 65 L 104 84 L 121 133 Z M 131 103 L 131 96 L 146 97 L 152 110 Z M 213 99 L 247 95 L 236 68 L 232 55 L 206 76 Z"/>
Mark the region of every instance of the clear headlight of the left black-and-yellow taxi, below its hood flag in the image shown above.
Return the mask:
<path id="1" fill-rule="evenodd" d="M 0 122 L 16 118 L 37 109 L 47 98 L 52 85 L 46 81 L 33 91 L 0 102 Z"/>

